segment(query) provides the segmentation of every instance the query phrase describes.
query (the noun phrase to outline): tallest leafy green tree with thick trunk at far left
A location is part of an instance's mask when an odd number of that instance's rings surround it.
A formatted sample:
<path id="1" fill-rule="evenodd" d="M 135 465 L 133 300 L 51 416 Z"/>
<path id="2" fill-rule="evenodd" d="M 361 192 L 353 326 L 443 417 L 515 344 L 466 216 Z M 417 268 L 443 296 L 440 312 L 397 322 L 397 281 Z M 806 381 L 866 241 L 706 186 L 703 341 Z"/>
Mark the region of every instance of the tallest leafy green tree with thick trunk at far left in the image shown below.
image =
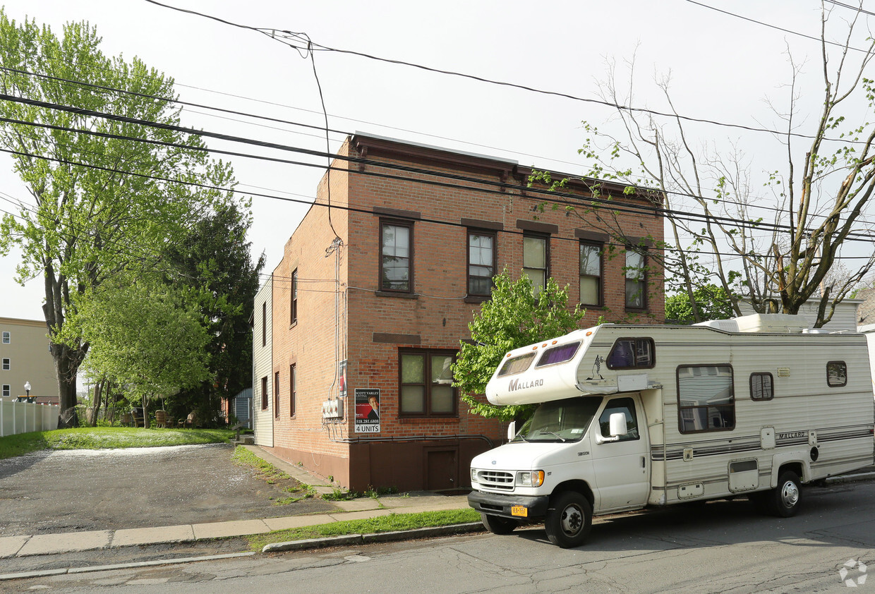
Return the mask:
<path id="1" fill-rule="evenodd" d="M 35 21 L 16 23 L 0 10 L 0 92 L 23 100 L 179 123 L 173 80 L 134 58 L 109 58 L 87 23 L 66 24 L 61 37 Z M 113 90 L 84 87 L 83 80 Z M 199 137 L 115 122 L 85 112 L 0 101 L 0 147 L 34 201 L 0 224 L 0 252 L 23 254 L 18 281 L 43 276 L 45 323 L 62 409 L 76 404 L 76 374 L 88 339 L 76 331 L 77 304 L 125 270 L 155 269 L 161 249 L 186 236 L 200 213 L 231 200 L 233 173 L 213 162 Z M 46 128 L 41 126 L 52 126 Z M 88 130 L 86 134 L 81 130 Z M 96 134 L 110 136 L 95 136 Z M 158 143 L 128 140 L 136 137 Z M 172 179 L 173 181 L 167 181 Z M 76 424 L 73 416 L 68 424 Z"/>

